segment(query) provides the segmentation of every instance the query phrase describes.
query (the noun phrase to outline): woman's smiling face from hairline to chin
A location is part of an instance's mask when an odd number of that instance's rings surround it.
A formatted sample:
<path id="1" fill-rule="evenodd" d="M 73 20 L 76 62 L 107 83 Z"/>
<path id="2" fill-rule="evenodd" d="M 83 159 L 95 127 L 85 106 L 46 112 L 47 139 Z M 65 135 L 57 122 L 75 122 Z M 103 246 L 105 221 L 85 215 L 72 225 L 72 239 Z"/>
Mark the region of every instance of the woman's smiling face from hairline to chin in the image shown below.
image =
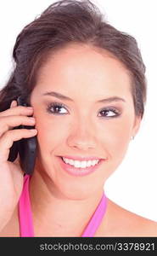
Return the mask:
<path id="1" fill-rule="evenodd" d="M 48 92 L 51 95 L 44 95 Z M 104 49 L 87 45 L 69 45 L 49 57 L 38 74 L 31 106 L 38 131 L 37 160 L 43 166 L 37 172 L 48 177 L 53 192 L 70 199 L 102 191 L 141 121 L 135 117 L 126 68 Z M 74 176 L 64 171 L 59 156 L 103 160 L 95 172 Z"/>

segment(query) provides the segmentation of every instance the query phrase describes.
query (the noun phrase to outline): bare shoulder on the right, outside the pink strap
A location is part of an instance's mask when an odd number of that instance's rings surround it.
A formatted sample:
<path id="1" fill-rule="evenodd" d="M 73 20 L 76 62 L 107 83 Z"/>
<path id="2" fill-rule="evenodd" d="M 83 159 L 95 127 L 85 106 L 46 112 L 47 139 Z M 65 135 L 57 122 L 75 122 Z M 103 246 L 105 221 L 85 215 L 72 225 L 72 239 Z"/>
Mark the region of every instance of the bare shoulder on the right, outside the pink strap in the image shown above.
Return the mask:
<path id="1" fill-rule="evenodd" d="M 98 236 L 157 236 L 157 222 L 127 211 L 108 199 Z"/>

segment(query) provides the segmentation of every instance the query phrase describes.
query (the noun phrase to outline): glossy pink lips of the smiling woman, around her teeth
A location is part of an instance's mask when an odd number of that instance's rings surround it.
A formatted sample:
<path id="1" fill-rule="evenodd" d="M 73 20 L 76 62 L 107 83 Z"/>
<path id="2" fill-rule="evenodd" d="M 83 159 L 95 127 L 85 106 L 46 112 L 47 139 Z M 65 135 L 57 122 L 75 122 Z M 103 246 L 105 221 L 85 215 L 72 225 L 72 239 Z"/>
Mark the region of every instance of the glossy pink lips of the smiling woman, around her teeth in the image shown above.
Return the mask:
<path id="1" fill-rule="evenodd" d="M 62 160 L 62 157 L 59 157 L 59 164 L 61 168 L 72 176 L 86 176 L 92 172 L 95 172 L 103 161 L 104 160 L 99 160 L 98 164 L 96 164 L 95 166 L 89 166 L 86 168 L 76 168 L 75 166 L 70 166 L 70 164 L 66 164 L 64 160 Z"/>

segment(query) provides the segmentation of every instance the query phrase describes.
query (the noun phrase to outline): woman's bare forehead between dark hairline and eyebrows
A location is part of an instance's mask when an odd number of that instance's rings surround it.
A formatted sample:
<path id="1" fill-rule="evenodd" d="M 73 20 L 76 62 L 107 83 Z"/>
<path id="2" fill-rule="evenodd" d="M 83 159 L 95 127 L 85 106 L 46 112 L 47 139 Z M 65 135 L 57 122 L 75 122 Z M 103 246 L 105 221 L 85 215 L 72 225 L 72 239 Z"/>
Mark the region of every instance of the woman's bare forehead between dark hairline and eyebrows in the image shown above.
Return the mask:
<path id="1" fill-rule="evenodd" d="M 107 50 L 76 44 L 49 55 L 37 79 L 40 89 L 62 88 L 64 92 L 79 87 L 121 93 L 128 91 L 130 84 L 126 67 Z"/>

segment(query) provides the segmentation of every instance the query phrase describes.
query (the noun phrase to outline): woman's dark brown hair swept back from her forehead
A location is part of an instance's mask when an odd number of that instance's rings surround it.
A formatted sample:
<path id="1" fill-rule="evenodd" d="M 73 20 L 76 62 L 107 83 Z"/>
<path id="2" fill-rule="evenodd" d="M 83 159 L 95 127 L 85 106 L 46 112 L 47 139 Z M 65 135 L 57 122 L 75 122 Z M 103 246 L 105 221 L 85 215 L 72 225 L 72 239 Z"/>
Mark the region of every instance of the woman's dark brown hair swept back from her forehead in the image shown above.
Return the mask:
<path id="1" fill-rule="evenodd" d="M 132 78 L 135 113 L 143 118 L 147 83 L 137 41 L 109 25 L 88 0 L 55 2 L 20 32 L 13 49 L 14 71 L 0 91 L 0 111 L 20 95 L 29 102 L 39 68 L 50 54 L 71 43 L 106 49 L 125 65 Z"/>

